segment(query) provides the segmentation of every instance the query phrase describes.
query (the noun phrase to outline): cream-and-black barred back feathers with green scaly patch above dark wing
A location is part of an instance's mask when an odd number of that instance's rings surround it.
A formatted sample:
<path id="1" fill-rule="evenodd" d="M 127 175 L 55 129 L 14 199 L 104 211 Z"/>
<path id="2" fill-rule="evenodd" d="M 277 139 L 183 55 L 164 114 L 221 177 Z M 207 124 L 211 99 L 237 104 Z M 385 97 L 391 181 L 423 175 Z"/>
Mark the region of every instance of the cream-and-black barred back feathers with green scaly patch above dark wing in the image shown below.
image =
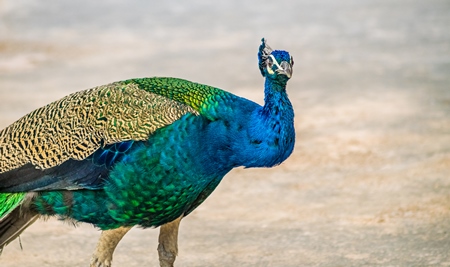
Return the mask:
<path id="1" fill-rule="evenodd" d="M 0 173 L 82 160 L 101 146 L 146 140 L 186 113 L 214 119 L 220 89 L 175 78 L 143 78 L 73 93 L 0 131 Z"/>

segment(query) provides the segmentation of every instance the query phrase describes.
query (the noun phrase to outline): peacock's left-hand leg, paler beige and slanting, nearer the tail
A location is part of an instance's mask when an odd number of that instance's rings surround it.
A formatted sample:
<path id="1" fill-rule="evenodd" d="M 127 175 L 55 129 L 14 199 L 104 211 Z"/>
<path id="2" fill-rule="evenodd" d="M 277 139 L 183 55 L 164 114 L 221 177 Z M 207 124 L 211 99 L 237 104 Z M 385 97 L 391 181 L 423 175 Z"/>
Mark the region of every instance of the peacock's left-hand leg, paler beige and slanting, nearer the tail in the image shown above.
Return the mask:
<path id="1" fill-rule="evenodd" d="M 130 229 L 131 227 L 119 227 L 103 231 L 92 255 L 90 267 L 111 267 L 114 249 Z"/>

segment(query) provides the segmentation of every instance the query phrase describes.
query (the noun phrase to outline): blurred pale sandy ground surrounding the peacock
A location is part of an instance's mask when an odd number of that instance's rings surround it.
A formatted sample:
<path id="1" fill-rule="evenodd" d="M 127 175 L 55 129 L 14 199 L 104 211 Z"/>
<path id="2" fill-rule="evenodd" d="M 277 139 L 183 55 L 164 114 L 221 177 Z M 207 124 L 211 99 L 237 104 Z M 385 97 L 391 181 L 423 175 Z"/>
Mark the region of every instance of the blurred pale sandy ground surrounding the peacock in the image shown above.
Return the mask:
<path id="1" fill-rule="evenodd" d="M 446 0 L 0 0 L 0 127 L 132 77 L 262 103 L 264 36 L 295 59 L 295 151 L 226 176 L 183 220 L 177 266 L 450 266 L 449 25 Z M 157 266 L 157 235 L 133 229 L 114 266 Z M 39 221 L 0 266 L 88 266 L 98 236 Z"/>

